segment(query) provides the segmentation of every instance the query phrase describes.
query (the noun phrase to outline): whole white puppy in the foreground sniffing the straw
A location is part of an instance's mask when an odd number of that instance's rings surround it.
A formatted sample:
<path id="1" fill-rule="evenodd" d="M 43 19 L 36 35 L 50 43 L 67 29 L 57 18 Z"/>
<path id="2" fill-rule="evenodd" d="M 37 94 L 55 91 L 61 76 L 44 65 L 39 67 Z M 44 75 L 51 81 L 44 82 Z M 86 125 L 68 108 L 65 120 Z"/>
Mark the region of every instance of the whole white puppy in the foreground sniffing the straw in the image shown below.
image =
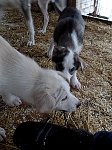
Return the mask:
<path id="1" fill-rule="evenodd" d="M 31 58 L 16 51 L 0 36 L 0 95 L 9 106 L 25 101 L 40 113 L 52 110 L 72 112 L 79 100 L 70 93 L 63 73 L 39 67 Z M 20 100 L 21 99 L 21 100 Z M 0 128 L 0 140 L 5 137 Z"/>

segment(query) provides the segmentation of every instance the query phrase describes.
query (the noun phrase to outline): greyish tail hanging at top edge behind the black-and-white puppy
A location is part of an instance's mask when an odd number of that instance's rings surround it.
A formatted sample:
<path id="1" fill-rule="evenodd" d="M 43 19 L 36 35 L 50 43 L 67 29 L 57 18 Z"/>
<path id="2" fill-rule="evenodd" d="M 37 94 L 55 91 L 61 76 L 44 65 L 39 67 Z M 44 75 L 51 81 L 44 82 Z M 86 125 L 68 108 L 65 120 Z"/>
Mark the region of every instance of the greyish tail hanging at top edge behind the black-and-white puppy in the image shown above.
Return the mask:
<path id="1" fill-rule="evenodd" d="M 64 10 L 64 8 L 67 7 L 67 2 L 66 0 L 64 1 L 59 1 L 59 0 L 51 0 L 54 9 L 56 10 L 56 12 L 60 15 L 61 12 Z"/>

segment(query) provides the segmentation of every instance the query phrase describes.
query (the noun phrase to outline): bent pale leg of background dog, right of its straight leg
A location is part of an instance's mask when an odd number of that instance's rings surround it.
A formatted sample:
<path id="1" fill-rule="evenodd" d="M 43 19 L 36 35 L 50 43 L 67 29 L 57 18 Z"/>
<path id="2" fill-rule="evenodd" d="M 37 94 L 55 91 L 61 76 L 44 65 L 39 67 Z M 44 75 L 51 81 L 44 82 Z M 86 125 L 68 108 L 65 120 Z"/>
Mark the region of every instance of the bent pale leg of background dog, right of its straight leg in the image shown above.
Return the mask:
<path id="1" fill-rule="evenodd" d="M 38 5 L 44 15 L 44 24 L 41 30 L 39 30 L 40 33 L 46 33 L 46 28 L 48 26 L 49 22 L 49 15 L 48 15 L 48 4 L 50 0 L 38 0 Z"/>

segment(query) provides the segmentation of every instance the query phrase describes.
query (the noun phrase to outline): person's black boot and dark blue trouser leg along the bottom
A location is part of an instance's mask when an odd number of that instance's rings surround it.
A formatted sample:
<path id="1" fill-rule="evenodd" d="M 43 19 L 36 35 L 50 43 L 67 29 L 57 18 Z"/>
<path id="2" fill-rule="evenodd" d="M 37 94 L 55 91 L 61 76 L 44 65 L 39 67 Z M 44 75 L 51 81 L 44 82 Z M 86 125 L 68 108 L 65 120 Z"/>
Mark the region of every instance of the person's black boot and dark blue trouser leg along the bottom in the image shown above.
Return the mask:
<path id="1" fill-rule="evenodd" d="M 13 141 L 21 150 L 111 150 L 112 132 L 99 131 L 94 135 L 82 129 L 43 123 L 24 122 L 20 124 L 13 136 Z"/>

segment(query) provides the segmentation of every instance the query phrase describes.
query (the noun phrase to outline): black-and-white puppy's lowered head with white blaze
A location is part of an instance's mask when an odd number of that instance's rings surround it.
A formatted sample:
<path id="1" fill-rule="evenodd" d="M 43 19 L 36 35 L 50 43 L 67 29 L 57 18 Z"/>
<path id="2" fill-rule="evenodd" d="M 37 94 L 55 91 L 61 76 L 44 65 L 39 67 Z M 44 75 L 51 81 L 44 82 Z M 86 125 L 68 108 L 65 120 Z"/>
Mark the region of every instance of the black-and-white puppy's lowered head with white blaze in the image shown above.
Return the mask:
<path id="1" fill-rule="evenodd" d="M 76 70 L 83 70 L 85 66 L 78 54 L 65 47 L 55 47 L 52 61 L 55 62 L 56 70 L 62 71 L 69 80 Z"/>

